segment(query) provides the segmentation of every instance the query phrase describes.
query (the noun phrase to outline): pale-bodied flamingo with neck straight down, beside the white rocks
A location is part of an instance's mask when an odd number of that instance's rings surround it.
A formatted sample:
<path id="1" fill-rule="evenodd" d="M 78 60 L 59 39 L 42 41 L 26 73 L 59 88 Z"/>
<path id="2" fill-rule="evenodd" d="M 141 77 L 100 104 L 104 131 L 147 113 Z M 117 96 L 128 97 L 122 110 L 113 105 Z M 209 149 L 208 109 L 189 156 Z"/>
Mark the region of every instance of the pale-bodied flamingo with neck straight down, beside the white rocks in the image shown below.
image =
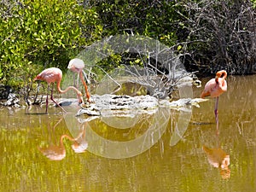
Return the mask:
<path id="1" fill-rule="evenodd" d="M 81 79 L 82 83 L 84 84 L 84 90 L 85 90 L 85 94 L 86 94 L 86 97 L 87 97 L 87 101 L 91 102 L 90 93 L 88 91 L 88 87 L 87 87 L 87 84 L 84 81 L 84 76 L 83 76 L 84 61 L 75 58 L 75 59 L 69 61 L 69 64 L 68 64 L 67 68 L 70 69 L 73 73 L 78 73 L 79 74 L 79 78 Z M 77 87 L 78 86 L 79 86 L 79 84 L 77 83 Z"/>

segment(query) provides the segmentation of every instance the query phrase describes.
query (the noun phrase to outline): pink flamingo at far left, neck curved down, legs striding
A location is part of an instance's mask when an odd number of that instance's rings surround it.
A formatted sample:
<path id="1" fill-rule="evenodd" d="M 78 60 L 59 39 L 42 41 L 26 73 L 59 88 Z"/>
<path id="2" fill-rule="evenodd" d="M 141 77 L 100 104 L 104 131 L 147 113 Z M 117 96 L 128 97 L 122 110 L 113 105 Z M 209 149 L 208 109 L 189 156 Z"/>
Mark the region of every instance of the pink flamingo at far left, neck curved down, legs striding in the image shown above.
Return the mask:
<path id="1" fill-rule="evenodd" d="M 83 102 L 83 95 L 82 95 L 82 93 L 77 88 L 75 88 L 73 86 L 69 86 L 69 87 L 67 87 L 66 90 L 61 90 L 61 79 L 62 79 L 61 69 L 56 68 L 56 67 L 50 67 L 50 68 L 44 69 L 44 71 L 39 73 L 38 76 L 34 79 L 34 80 L 46 81 L 46 83 L 48 84 L 47 96 L 46 96 L 46 111 L 45 111 L 45 113 L 48 113 L 48 95 L 49 95 L 49 86 L 50 86 L 51 83 L 53 83 L 53 85 L 54 85 L 55 82 L 57 83 L 57 90 L 61 94 L 62 93 L 66 93 L 67 90 L 70 90 L 70 89 L 75 90 L 77 95 L 78 95 L 78 98 L 79 98 L 79 103 Z M 55 102 L 55 100 L 53 99 L 53 87 L 51 89 L 50 99 L 53 102 Z M 61 106 L 57 102 L 55 102 L 55 104 L 61 108 Z M 61 109 L 64 112 L 66 112 L 63 108 L 61 108 Z"/>

